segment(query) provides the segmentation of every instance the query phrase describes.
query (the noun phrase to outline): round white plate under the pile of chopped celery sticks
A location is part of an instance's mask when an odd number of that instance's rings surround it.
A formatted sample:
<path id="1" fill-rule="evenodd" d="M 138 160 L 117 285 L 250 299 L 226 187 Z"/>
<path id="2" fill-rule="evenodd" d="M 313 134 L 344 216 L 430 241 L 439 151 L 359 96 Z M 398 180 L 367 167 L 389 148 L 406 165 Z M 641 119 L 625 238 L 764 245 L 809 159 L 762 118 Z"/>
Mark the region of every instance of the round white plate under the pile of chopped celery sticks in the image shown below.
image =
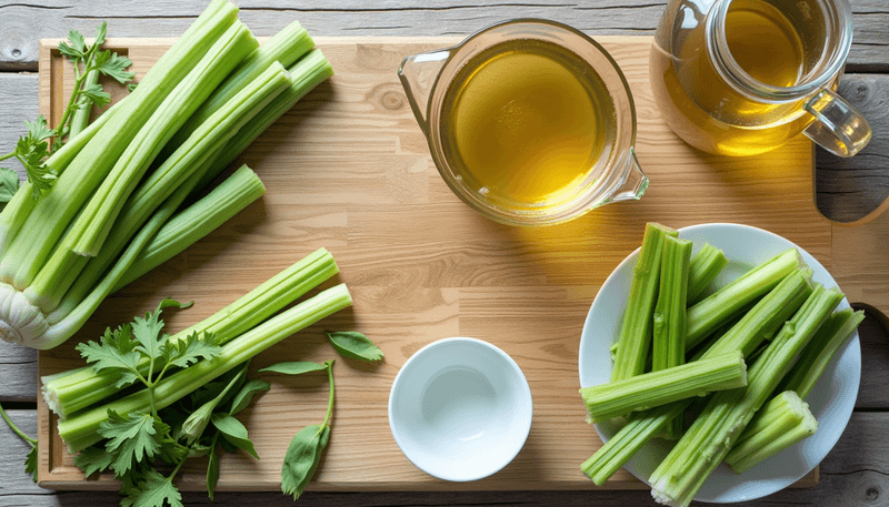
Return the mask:
<path id="1" fill-rule="evenodd" d="M 702 224 L 679 230 L 679 236 L 695 242 L 693 253 L 705 243 L 722 249 L 729 264 L 713 282 L 720 287 L 753 265 L 796 246 L 812 270 L 812 280 L 826 287 L 837 282 L 825 266 L 798 245 L 761 229 L 738 224 Z M 641 239 L 640 239 L 641 242 Z M 580 386 L 607 383 L 611 376 L 609 347 L 617 341 L 620 321 L 630 293 L 632 270 L 639 249 L 631 253 L 602 284 L 592 302 L 580 338 Z M 848 308 L 843 298 L 838 310 Z M 811 437 L 771 456 L 743 474 L 736 474 L 725 463 L 703 483 L 696 500 L 732 503 L 752 500 L 770 495 L 795 483 L 818 465 L 839 439 L 852 414 L 858 383 L 861 378 L 861 347 L 856 332 L 833 356 L 821 378 L 806 398 L 818 419 L 818 432 Z M 597 424 L 603 442 L 617 433 L 613 424 Z M 656 438 L 646 445 L 626 468 L 648 483 L 651 473 L 672 447 L 672 443 Z"/>

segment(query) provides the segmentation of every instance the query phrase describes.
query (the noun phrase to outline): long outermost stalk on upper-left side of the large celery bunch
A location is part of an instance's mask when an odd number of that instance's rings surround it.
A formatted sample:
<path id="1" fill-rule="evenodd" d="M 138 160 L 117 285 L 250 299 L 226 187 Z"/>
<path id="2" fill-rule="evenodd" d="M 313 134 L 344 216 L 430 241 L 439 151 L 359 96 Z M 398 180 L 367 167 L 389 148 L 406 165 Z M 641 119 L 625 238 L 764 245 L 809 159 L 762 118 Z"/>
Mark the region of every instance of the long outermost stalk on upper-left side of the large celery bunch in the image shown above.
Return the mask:
<path id="1" fill-rule="evenodd" d="M 152 65 L 116 114 L 70 162 L 52 191 L 37 202 L 4 252 L 0 278 L 11 278 L 19 290 L 31 284 L 71 220 L 141 125 L 174 84 L 194 67 L 196 54 L 204 53 L 237 21 L 237 13 L 234 6 L 214 1 Z"/>

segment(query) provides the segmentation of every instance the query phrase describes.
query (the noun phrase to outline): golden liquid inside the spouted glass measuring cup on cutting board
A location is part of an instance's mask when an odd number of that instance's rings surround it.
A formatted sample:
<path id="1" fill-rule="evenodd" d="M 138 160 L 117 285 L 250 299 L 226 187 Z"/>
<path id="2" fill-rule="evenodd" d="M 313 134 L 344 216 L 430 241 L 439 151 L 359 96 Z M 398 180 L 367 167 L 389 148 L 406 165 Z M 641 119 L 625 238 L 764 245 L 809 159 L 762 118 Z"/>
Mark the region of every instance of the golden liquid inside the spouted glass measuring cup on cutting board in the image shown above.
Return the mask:
<path id="1" fill-rule="evenodd" d="M 448 89 L 442 114 L 453 172 L 491 204 L 533 210 L 569 200 L 596 178 L 617 121 L 589 63 L 532 40 L 472 58 Z"/>

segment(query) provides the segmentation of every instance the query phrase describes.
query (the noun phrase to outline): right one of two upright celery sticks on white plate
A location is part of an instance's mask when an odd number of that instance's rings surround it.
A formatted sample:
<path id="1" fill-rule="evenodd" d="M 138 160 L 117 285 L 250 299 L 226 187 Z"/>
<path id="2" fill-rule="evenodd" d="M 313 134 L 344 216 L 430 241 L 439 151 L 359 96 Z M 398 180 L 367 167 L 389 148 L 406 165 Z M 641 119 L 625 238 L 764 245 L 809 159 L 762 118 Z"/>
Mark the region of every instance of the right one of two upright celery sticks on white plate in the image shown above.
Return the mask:
<path id="1" fill-rule="evenodd" d="M 663 237 L 651 345 L 651 369 L 655 372 L 686 363 L 686 305 L 691 246 L 689 240 Z M 675 440 L 681 434 L 680 416 L 670 423 L 663 437 Z"/>

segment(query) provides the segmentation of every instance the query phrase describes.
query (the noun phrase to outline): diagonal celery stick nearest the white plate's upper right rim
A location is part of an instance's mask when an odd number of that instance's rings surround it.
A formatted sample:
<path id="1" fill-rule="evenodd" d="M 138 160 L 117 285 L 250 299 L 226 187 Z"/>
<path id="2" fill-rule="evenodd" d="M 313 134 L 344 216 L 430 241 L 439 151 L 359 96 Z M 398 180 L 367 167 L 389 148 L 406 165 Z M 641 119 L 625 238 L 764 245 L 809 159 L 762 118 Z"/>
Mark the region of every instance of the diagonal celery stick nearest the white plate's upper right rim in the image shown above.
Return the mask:
<path id="1" fill-rule="evenodd" d="M 688 310 L 686 348 L 691 348 L 750 302 L 771 291 L 802 265 L 797 249 L 790 249 L 753 267 Z"/>

